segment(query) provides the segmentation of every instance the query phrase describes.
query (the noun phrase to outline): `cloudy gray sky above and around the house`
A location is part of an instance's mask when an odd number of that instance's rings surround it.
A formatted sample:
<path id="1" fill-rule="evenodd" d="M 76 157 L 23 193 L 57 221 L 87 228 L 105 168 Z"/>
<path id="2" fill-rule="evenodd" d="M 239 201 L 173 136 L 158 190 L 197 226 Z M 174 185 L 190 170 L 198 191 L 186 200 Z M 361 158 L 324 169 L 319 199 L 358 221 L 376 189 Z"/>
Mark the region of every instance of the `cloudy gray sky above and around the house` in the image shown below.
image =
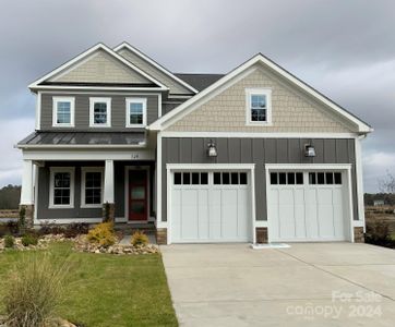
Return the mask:
<path id="1" fill-rule="evenodd" d="M 0 0 L 0 187 L 21 183 L 27 85 L 93 45 L 123 40 L 172 72 L 226 73 L 262 52 L 374 128 L 366 192 L 395 174 L 393 0 Z"/>

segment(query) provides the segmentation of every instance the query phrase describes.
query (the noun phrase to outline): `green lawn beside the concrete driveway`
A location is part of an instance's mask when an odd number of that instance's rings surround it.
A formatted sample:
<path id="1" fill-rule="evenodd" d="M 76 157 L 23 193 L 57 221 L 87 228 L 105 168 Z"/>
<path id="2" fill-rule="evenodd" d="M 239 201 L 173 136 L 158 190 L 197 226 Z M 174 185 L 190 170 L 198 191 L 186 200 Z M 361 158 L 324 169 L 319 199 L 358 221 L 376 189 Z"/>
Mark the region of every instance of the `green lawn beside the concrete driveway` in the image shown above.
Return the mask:
<path id="1" fill-rule="evenodd" d="M 67 256 L 70 244 L 51 246 Z M 12 263 L 26 252 L 0 254 L 0 294 Z M 32 253 L 27 253 L 32 255 Z M 161 257 L 74 253 L 58 315 L 80 326 L 178 326 Z M 0 314 L 3 313 L 0 304 Z"/>

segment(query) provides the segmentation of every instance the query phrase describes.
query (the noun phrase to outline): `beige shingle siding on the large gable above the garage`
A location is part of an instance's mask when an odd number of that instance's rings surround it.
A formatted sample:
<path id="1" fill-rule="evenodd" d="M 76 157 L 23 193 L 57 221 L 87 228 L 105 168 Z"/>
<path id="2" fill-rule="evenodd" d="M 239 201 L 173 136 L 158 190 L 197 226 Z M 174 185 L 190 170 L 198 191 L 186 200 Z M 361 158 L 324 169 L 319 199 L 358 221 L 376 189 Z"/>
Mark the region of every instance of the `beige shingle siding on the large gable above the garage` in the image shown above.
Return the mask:
<path id="1" fill-rule="evenodd" d="M 246 88 L 272 89 L 272 126 L 246 125 Z M 256 69 L 187 114 L 167 131 L 179 132 L 323 132 L 348 133 L 350 126 L 299 89 Z"/>

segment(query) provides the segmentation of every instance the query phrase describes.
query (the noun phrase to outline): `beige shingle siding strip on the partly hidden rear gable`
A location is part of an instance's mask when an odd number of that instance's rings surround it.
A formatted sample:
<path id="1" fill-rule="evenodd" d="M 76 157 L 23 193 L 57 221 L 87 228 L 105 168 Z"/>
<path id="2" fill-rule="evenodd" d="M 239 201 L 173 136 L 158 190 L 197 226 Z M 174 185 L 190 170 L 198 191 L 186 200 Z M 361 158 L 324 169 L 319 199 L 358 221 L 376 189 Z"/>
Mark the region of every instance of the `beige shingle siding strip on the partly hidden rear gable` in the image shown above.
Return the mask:
<path id="1" fill-rule="evenodd" d="M 176 82 L 173 78 L 170 78 L 167 74 L 159 71 L 157 68 L 153 66 L 135 53 L 131 52 L 128 49 L 122 49 L 118 52 L 124 59 L 129 60 L 142 71 L 146 72 L 148 75 L 153 76 L 160 83 L 165 84 L 169 89 L 170 94 L 191 94 L 192 92 L 187 87 L 182 86 L 180 83 Z"/>

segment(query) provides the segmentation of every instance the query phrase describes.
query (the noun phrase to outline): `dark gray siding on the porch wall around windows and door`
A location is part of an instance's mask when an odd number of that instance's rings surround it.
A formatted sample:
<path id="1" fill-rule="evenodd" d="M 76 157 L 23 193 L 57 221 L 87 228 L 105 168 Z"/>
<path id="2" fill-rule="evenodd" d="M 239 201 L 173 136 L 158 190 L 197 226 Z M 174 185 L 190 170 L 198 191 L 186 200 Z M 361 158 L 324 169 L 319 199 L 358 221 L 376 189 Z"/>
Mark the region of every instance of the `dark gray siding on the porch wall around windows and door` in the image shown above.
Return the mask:
<path id="1" fill-rule="evenodd" d="M 153 161 L 116 161 L 115 162 L 115 201 L 116 217 L 124 217 L 124 167 L 125 166 L 149 166 L 149 209 L 151 216 L 155 216 L 154 208 L 154 174 L 155 164 Z M 49 209 L 49 175 L 50 167 L 75 167 L 74 174 L 74 208 Z M 47 162 L 39 168 L 38 172 L 38 219 L 62 219 L 62 218 L 101 218 L 100 208 L 81 208 L 81 168 L 82 167 L 104 167 L 103 161 L 80 161 L 80 162 Z"/>

